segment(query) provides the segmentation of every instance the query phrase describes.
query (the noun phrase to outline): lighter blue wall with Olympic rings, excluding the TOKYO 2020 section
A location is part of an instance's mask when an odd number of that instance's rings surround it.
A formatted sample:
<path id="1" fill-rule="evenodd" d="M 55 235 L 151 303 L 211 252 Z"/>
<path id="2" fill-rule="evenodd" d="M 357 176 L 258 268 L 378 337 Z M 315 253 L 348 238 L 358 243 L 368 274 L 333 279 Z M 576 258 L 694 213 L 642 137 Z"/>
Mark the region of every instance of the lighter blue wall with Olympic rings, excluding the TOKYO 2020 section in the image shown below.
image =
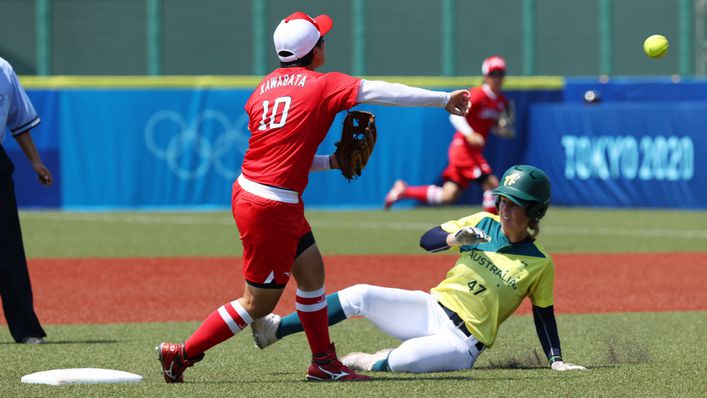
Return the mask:
<path id="1" fill-rule="evenodd" d="M 44 123 L 40 150 L 58 176 L 51 203 L 19 181 L 25 206 L 69 209 L 230 206 L 233 180 L 247 149 L 249 89 L 63 89 L 31 91 Z M 517 163 L 525 145 L 528 104 L 557 101 L 559 91 L 517 91 L 519 136 L 492 137 L 488 159 L 497 172 Z M 397 178 L 439 182 L 454 130 L 442 109 L 359 106 L 376 114 L 379 139 L 363 176 L 314 173 L 304 200 L 317 207 L 377 208 Z M 334 151 L 343 114 L 319 153 Z M 49 144 L 43 140 L 51 139 Z M 59 154 L 61 159 L 59 159 Z M 24 171 L 27 171 L 25 168 Z M 29 169 L 31 172 L 31 169 Z M 475 186 L 462 203 L 479 203 Z M 412 205 L 410 201 L 403 205 Z"/>

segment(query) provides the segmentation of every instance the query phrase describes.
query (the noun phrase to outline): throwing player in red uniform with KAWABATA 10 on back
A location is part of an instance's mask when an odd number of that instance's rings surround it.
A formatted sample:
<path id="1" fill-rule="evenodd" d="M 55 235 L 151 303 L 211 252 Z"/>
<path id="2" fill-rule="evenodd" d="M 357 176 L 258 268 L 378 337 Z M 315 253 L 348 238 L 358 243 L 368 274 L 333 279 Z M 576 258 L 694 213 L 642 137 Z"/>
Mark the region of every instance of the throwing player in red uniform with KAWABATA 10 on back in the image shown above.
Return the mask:
<path id="1" fill-rule="evenodd" d="M 273 34 L 280 68 L 260 82 L 245 105 L 251 137 L 242 174 L 233 184 L 245 291 L 214 311 L 184 344 L 157 347 L 168 383 L 182 382 L 184 370 L 200 361 L 206 350 L 269 314 L 290 274 L 297 281 L 297 314 L 312 350 L 307 379 L 369 379 L 343 366 L 329 338 L 324 263 L 302 203 L 309 172 L 331 167 L 330 156 L 315 156 L 316 149 L 336 114 L 356 104 L 440 107 L 463 116 L 469 92 L 430 91 L 316 72 L 326 61 L 324 35 L 332 25 L 327 15 L 312 18 L 296 12 Z"/>

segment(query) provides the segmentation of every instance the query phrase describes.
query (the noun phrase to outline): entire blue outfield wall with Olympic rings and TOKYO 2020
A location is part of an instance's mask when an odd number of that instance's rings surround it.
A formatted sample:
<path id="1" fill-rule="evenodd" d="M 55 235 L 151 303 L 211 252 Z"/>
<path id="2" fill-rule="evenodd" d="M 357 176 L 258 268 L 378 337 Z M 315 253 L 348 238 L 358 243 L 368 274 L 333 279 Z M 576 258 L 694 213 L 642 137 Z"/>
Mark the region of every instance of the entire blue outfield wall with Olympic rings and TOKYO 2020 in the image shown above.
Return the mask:
<path id="1" fill-rule="evenodd" d="M 602 83 L 613 98 L 601 104 L 563 102 L 571 90 L 510 91 L 518 136 L 489 139 L 486 157 L 496 174 L 516 163 L 545 169 L 554 203 L 611 207 L 707 208 L 707 101 L 704 83 L 685 92 L 690 101 L 647 102 L 663 80 Z M 580 84 L 581 83 L 581 84 Z M 658 86 L 651 86 L 658 84 Z M 619 87 L 620 86 L 620 87 Z M 652 87 L 652 88 L 651 88 Z M 658 87 L 658 88 L 656 88 Z M 687 86 L 686 86 L 687 87 Z M 39 186 L 11 138 L 23 207 L 68 209 L 230 206 L 249 133 L 243 105 L 248 89 L 62 89 L 29 92 L 43 123 L 33 136 L 56 177 Z M 566 99 L 566 97 L 565 97 Z M 630 101 L 629 101 L 630 99 Z M 640 100 L 640 101 L 639 101 Z M 346 182 L 338 171 L 310 176 L 310 207 L 378 208 L 397 178 L 439 182 L 454 133 L 442 109 L 359 106 L 376 114 L 379 138 L 364 174 Z M 331 153 L 343 114 L 319 153 Z M 479 204 L 476 185 L 461 203 Z M 413 201 L 403 206 L 413 205 Z"/>

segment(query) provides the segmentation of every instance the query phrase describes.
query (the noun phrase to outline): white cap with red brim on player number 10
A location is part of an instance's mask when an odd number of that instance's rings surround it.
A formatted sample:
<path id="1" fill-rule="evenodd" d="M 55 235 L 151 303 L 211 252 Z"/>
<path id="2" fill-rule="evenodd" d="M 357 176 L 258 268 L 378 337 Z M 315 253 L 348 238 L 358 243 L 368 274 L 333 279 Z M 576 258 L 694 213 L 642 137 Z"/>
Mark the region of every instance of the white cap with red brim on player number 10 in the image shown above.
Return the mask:
<path id="1" fill-rule="evenodd" d="M 307 55 L 334 25 L 328 15 L 312 18 L 297 11 L 283 19 L 272 38 L 275 52 L 282 62 L 296 61 Z"/>

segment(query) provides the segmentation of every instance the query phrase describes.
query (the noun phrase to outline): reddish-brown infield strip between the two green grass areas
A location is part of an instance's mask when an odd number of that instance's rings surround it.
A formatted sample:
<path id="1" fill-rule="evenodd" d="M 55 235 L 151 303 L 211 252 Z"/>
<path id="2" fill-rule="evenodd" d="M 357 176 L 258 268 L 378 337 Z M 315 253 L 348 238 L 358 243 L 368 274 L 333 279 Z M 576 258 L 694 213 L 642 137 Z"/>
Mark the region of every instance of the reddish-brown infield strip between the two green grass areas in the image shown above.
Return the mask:
<path id="1" fill-rule="evenodd" d="M 707 254 L 556 254 L 555 311 L 707 310 Z M 328 256 L 327 292 L 355 283 L 428 290 L 454 256 Z M 30 261 L 45 324 L 200 321 L 243 291 L 240 258 Z M 290 283 L 276 312 L 294 309 Z M 529 312 L 524 303 L 521 313 Z M 0 323 L 5 321 L 0 317 Z"/>

